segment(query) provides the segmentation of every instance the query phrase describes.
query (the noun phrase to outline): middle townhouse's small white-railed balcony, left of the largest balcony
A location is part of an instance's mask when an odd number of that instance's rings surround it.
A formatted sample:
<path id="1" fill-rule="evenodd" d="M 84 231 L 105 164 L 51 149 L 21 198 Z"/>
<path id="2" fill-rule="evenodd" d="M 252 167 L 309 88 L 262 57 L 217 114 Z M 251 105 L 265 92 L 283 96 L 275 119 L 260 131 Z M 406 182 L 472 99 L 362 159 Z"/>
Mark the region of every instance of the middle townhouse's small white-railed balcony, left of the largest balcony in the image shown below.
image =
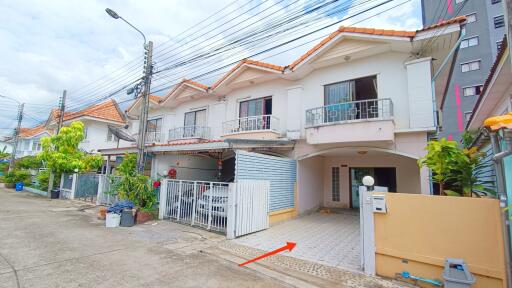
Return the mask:
<path id="1" fill-rule="evenodd" d="M 237 118 L 222 123 L 223 138 L 276 139 L 279 136 L 279 118 L 260 115 Z"/>

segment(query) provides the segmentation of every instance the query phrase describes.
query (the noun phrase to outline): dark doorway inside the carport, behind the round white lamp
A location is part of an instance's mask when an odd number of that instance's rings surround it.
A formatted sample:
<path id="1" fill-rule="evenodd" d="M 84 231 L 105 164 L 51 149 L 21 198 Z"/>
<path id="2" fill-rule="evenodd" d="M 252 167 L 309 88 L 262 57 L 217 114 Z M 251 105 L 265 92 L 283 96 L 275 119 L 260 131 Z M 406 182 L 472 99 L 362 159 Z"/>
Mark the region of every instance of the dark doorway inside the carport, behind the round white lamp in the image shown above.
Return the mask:
<path id="1" fill-rule="evenodd" d="M 389 192 L 396 192 L 396 168 L 350 168 L 350 208 L 359 209 L 359 186 L 363 185 L 364 176 L 372 176 L 375 186 L 387 187 Z"/>

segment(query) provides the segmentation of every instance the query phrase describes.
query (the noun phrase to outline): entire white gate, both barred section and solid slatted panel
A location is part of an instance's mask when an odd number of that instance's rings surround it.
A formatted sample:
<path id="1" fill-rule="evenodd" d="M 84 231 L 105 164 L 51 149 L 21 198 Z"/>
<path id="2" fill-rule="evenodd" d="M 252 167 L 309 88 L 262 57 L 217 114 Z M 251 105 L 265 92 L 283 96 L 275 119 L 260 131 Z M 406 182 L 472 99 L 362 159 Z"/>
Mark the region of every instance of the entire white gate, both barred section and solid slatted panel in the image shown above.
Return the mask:
<path id="1" fill-rule="evenodd" d="M 163 180 L 160 219 L 226 233 L 228 238 L 268 228 L 268 181 L 237 183 Z"/>

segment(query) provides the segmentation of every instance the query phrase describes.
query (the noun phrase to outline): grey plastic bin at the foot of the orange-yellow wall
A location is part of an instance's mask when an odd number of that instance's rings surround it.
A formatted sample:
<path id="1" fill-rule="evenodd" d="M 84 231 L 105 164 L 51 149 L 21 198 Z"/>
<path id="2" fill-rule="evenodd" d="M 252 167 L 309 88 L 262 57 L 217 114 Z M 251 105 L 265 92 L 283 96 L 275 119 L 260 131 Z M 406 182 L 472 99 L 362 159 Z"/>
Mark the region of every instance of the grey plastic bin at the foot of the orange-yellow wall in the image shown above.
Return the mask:
<path id="1" fill-rule="evenodd" d="M 466 288 L 475 283 L 475 276 L 469 273 L 468 266 L 462 259 L 447 258 L 444 261 L 443 278 L 446 288 Z"/>

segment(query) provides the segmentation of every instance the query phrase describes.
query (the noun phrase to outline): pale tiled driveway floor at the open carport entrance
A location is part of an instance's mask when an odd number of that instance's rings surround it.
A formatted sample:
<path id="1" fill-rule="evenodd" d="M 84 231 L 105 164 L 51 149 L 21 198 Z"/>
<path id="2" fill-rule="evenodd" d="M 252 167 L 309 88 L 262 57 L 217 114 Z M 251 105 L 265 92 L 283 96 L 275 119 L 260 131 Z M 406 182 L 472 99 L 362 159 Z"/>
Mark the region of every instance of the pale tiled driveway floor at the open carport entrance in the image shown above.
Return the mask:
<path id="1" fill-rule="evenodd" d="M 347 210 L 299 217 L 233 241 L 265 251 L 279 248 L 286 241 L 295 242 L 297 246 L 288 256 L 360 270 L 359 239 L 359 214 Z"/>

